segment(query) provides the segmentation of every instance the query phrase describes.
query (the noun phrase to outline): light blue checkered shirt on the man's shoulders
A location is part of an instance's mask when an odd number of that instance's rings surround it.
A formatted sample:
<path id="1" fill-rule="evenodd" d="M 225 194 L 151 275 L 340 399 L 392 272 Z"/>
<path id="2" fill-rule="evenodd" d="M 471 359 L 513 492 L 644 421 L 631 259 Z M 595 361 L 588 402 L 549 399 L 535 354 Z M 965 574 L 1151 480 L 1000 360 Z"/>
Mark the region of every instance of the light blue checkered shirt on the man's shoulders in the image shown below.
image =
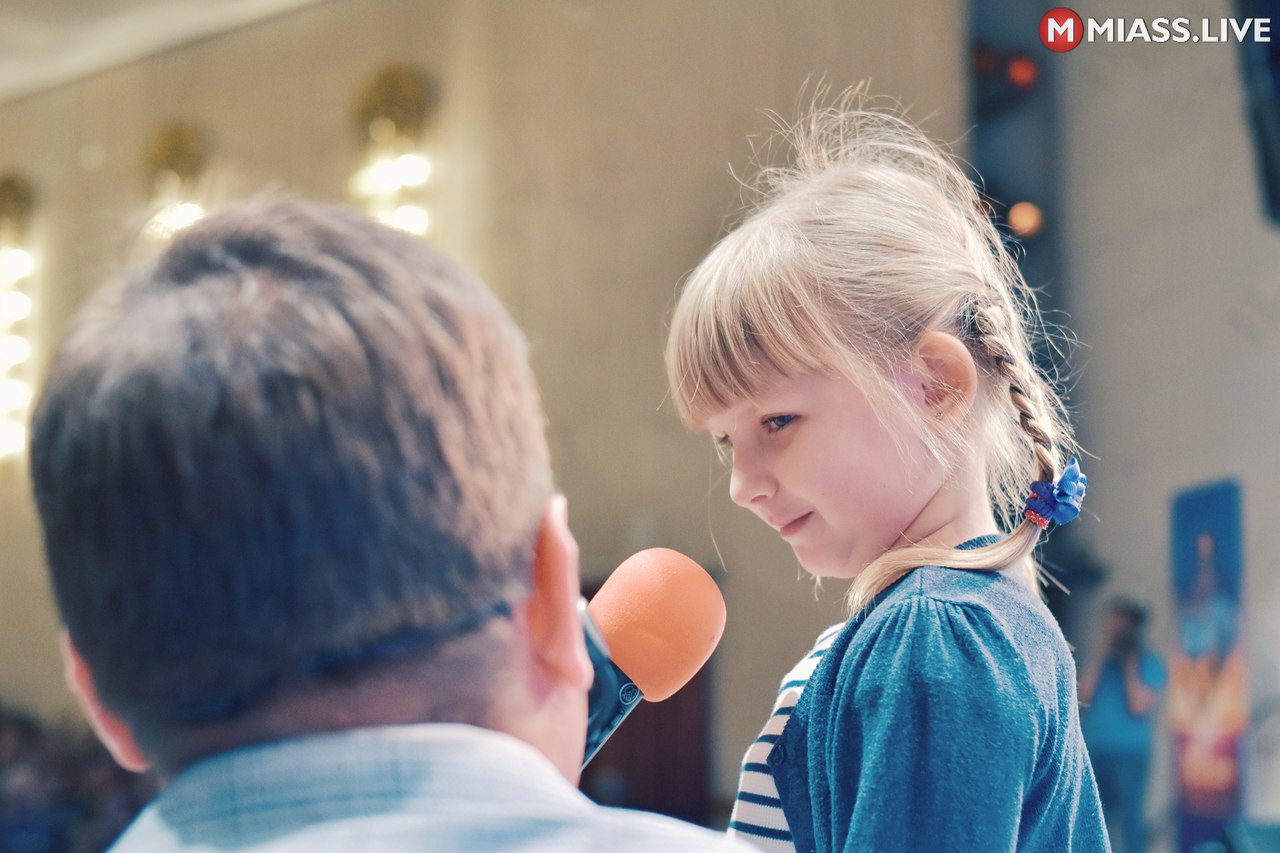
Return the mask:
<path id="1" fill-rule="evenodd" d="M 111 853 L 749 849 L 672 818 L 596 806 L 512 736 L 433 724 L 311 735 L 198 762 Z"/>

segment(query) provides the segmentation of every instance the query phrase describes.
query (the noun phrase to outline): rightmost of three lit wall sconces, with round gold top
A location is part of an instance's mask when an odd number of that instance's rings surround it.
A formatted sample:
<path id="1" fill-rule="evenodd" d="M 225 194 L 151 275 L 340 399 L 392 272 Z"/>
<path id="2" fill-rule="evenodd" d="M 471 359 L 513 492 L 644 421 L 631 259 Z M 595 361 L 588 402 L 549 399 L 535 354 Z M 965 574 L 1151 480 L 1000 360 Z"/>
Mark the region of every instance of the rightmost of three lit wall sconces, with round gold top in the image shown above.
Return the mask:
<path id="1" fill-rule="evenodd" d="M 351 195 L 374 219 L 413 234 L 425 234 L 430 219 L 424 200 L 431 161 L 421 134 L 439 97 L 410 65 L 384 68 L 360 99 L 357 119 L 365 158 L 351 177 Z"/>

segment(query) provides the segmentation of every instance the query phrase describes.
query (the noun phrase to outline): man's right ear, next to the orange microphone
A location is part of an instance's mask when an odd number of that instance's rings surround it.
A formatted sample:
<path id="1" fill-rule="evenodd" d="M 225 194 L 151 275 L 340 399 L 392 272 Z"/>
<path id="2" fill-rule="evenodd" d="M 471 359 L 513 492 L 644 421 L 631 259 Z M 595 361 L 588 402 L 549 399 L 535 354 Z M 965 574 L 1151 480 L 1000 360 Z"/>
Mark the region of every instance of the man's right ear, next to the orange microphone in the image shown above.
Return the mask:
<path id="1" fill-rule="evenodd" d="M 552 496 L 543 512 L 534 549 L 532 590 L 525 602 L 529 633 L 539 669 L 585 694 L 593 669 L 586 654 L 577 602 L 577 542 L 568 529 L 563 494 Z"/>

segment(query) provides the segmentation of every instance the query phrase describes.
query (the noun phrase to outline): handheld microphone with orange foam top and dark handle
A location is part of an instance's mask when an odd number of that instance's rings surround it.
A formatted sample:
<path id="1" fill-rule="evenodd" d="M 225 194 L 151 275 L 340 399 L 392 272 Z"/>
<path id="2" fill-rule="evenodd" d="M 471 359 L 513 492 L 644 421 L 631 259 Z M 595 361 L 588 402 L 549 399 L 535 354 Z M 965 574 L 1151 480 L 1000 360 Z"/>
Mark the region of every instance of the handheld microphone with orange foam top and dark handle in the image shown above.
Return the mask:
<path id="1" fill-rule="evenodd" d="M 627 557 L 579 602 L 595 669 L 585 767 L 640 699 L 660 702 L 698 674 L 724 633 L 724 598 L 696 562 L 669 548 Z"/>

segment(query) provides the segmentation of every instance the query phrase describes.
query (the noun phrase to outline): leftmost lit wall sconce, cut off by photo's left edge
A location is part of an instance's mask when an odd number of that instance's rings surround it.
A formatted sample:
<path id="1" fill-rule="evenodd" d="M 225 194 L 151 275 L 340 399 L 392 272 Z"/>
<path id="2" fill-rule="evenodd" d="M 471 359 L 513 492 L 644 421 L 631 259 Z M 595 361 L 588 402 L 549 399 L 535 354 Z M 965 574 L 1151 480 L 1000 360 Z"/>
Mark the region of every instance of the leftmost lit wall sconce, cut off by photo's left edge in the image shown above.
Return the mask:
<path id="1" fill-rule="evenodd" d="M 28 232 L 35 206 L 28 181 L 15 174 L 0 178 L 0 461 L 27 450 L 36 272 Z"/>

